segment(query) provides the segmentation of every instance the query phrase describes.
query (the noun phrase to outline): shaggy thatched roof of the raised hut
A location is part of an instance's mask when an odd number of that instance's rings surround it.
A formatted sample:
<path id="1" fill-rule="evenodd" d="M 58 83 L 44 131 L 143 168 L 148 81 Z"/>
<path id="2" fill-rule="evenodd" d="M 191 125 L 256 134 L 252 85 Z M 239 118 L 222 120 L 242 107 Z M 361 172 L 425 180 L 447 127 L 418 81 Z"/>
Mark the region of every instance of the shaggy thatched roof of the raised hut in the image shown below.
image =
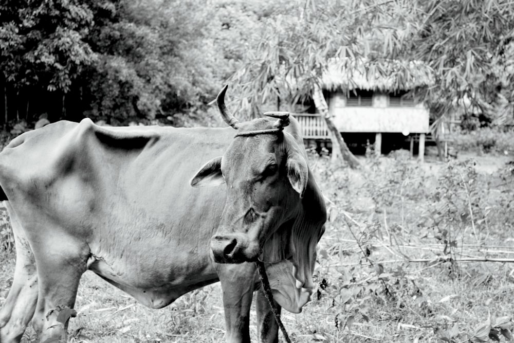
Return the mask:
<path id="1" fill-rule="evenodd" d="M 323 75 L 323 88 L 329 91 L 396 92 L 433 84 L 432 68 L 419 61 L 333 59 Z"/>

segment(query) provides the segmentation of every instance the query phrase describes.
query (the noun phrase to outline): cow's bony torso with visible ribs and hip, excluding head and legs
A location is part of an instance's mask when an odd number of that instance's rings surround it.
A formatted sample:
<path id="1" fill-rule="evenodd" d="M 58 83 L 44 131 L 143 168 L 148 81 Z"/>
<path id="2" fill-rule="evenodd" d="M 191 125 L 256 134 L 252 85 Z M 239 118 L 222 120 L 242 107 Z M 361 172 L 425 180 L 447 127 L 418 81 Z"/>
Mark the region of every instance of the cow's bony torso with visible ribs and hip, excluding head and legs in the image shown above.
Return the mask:
<path id="1" fill-rule="evenodd" d="M 27 230 L 84 242 L 88 266 L 152 307 L 216 280 L 210 237 L 225 186 L 194 189 L 232 129 L 102 128 L 57 122 L 0 154 L 0 185 Z M 36 227 L 45 216 L 51 227 Z"/>

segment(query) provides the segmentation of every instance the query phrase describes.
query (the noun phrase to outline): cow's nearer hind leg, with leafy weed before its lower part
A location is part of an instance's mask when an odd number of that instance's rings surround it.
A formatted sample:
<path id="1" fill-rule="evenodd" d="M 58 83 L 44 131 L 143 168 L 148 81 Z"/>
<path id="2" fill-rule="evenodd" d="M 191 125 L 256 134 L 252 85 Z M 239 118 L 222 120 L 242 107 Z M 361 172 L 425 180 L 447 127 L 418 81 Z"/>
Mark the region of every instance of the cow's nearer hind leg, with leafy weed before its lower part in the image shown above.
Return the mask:
<path id="1" fill-rule="evenodd" d="M 37 242 L 32 249 L 38 266 L 39 294 L 32 326 L 42 342 L 50 338 L 66 341 L 68 318 L 59 314 L 75 306 L 89 249 L 84 242 L 56 227 L 46 230 Z"/>

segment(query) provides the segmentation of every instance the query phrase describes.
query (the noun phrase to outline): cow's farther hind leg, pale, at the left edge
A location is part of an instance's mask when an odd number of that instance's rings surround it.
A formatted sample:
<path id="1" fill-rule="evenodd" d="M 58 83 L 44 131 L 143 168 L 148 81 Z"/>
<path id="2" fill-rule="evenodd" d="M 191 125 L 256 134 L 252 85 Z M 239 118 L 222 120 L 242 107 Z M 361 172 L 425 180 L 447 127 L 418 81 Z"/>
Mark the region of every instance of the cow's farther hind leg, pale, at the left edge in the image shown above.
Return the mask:
<path id="1" fill-rule="evenodd" d="M 16 247 L 16 266 L 11 289 L 0 309 L 1 343 L 21 340 L 38 301 L 38 275 L 34 254 L 12 209 L 9 209 L 9 214 Z"/>

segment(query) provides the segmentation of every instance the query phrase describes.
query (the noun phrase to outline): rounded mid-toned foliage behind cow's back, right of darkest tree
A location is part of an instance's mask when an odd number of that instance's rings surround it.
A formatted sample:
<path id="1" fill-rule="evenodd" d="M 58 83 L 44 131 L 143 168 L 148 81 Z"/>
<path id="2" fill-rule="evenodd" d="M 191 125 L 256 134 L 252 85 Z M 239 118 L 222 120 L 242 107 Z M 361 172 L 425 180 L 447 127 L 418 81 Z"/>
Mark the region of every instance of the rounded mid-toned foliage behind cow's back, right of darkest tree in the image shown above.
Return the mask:
<path id="1" fill-rule="evenodd" d="M 198 1 L 120 2 L 88 37 L 100 56 L 89 70 L 91 115 L 153 119 L 211 100 L 223 61 L 210 25 Z"/>

